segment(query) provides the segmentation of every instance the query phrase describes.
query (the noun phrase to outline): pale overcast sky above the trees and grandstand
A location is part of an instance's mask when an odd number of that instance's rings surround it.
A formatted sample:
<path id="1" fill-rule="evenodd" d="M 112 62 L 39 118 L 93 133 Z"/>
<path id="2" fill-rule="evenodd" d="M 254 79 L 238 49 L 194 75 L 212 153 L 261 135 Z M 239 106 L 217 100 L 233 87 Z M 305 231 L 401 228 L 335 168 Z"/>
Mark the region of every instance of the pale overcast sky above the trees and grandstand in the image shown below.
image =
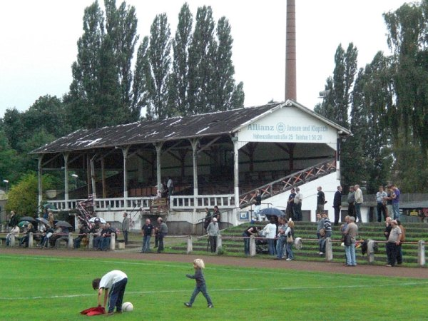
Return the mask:
<path id="1" fill-rule="evenodd" d="M 103 7 L 103 0 L 98 0 Z M 156 14 L 166 12 L 172 34 L 185 1 L 128 0 L 136 7 L 140 39 Z M 215 21 L 232 26 L 235 80 L 245 106 L 284 101 L 286 0 L 188 0 L 193 16 L 210 5 Z M 352 41 L 360 67 L 381 50 L 389 54 L 382 14 L 403 0 L 296 0 L 297 101 L 308 108 L 332 75 L 339 44 Z M 0 11 L 0 118 L 7 108 L 28 109 L 40 96 L 63 96 L 71 83 L 84 9 L 93 0 L 2 1 Z M 121 1 L 116 1 L 120 4 Z"/>

